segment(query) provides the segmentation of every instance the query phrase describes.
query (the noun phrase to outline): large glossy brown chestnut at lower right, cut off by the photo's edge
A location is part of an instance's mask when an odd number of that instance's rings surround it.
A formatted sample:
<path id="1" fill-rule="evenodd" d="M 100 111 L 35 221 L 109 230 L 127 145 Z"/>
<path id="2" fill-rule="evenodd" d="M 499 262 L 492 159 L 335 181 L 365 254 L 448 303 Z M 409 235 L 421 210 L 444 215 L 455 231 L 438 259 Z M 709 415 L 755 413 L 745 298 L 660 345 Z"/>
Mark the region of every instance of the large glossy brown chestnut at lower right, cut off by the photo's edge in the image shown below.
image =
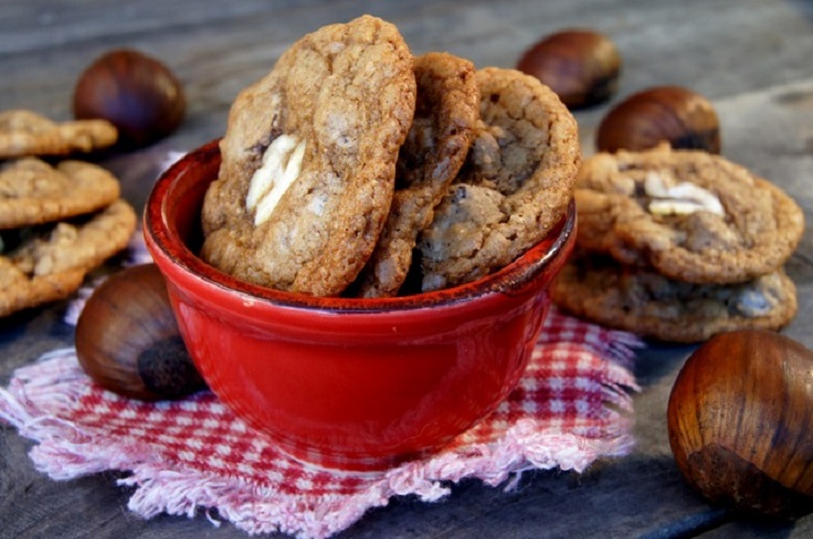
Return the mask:
<path id="1" fill-rule="evenodd" d="M 813 352 L 768 330 L 720 334 L 680 369 L 667 406 L 678 468 L 752 516 L 813 510 Z"/>

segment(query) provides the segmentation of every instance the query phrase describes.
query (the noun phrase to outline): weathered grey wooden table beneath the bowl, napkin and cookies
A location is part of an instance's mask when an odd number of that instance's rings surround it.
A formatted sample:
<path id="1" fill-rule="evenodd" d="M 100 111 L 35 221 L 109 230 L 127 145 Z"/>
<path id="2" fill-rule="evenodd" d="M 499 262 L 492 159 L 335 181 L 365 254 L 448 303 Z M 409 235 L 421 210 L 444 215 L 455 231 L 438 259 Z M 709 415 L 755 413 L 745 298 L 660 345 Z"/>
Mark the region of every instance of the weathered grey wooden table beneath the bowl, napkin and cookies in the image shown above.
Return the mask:
<path id="1" fill-rule="evenodd" d="M 145 150 L 190 149 L 220 136 L 228 107 L 302 34 L 363 12 L 400 28 L 414 53 L 446 50 L 477 66 L 514 66 L 541 35 L 566 27 L 610 35 L 624 59 L 619 94 L 661 84 L 691 87 L 715 104 L 722 154 L 790 192 L 813 212 L 813 3 L 806 0 L 415 0 L 399 2 L 133 0 L 0 2 L 0 109 L 70 117 L 76 76 L 96 55 L 133 46 L 162 59 L 182 80 L 189 114 L 169 139 Z M 608 106 L 580 112 L 584 152 Z M 140 204 L 149 170 L 123 170 Z M 141 178 L 136 180 L 136 178 Z M 800 311 L 786 335 L 813 348 L 813 234 L 788 271 Z M 73 342 L 64 304 L 0 321 L 0 384 L 41 353 Z M 464 483 L 446 500 L 397 499 L 341 537 L 813 537 L 813 517 L 795 524 L 733 520 L 683 482 L 666 436 L 666 400 L 689 347 L 652 346 L 636 376 L 637 446 L 583 475 L 535 473 L 517 492 Z M 199 515 L 145 521 L 108 474 L 56 483 L 33 469 L 31 442 L 0 426 L 0 537 L 243 537 Z"/>

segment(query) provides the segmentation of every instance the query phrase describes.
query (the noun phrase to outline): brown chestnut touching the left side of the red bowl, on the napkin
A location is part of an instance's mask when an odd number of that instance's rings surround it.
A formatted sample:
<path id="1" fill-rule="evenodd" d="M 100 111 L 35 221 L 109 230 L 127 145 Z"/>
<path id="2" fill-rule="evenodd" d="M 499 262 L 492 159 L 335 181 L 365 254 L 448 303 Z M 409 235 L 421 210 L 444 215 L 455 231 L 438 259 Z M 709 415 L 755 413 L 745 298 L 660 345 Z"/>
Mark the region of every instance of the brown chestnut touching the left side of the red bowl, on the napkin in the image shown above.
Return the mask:
<path id="1" fill-rule="evenodd" d="M 128 398 L 178 399 L 205 387 L 155 264 L 126 267 L 104 281 L 80 315 L 75 344 L 87 376 Z"/>

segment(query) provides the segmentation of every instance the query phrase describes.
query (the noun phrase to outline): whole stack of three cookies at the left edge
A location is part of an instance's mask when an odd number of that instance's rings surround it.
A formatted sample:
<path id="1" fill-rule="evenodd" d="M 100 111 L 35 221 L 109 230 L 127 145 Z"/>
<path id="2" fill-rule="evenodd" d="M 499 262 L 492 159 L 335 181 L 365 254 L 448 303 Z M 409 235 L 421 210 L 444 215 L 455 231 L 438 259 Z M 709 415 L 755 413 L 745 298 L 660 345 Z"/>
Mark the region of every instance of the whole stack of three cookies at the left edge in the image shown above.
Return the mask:
<path id="1" fill-rule="evenodd" d="M 110 146 L 116 136 L 104 120 L 0 113 L 0 316 L 70 296 L 126 247 L 137 219 L 118 180 L 66 159 Z"/>

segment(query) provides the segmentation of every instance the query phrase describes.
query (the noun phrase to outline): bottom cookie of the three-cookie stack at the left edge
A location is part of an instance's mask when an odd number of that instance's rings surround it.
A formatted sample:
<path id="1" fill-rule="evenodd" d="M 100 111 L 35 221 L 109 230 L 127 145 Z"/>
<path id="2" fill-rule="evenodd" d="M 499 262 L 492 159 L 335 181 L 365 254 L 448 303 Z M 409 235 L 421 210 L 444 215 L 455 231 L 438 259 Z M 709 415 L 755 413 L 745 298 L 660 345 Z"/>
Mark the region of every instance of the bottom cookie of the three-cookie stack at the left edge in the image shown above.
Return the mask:
<path id="1" fill-rule="evenodd" d="M 0 316 L 66 298 L 127 246 L 135 228 L 136 212 L 117 200 L 73 223 L 2 231 Z"/>

